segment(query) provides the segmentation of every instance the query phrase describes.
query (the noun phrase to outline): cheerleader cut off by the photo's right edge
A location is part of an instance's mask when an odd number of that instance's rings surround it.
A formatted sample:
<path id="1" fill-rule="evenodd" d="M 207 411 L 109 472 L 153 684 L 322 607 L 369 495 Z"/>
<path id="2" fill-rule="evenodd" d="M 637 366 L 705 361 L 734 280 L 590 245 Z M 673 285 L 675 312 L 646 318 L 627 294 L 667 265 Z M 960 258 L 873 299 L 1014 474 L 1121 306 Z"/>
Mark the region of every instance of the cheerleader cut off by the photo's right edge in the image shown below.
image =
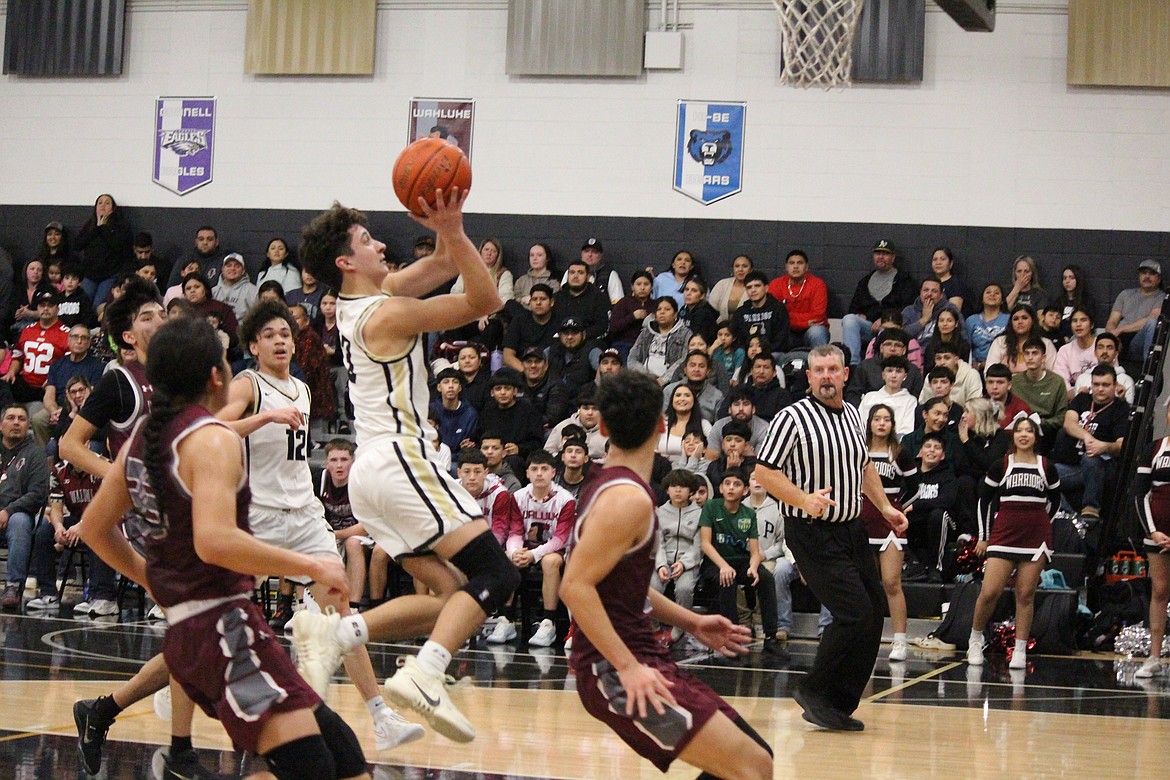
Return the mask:
<path id="1" fill-rule="evenodd" d="M 1166 408 L 1170 420 L 1170 407 Z M 1137 516 L 1145 526 L 1145 557 L 1150 561 L 1150 657 L 1134 674 L 1152 677 L 1162 671 L 1162 639 L 1170 600 L 1170 436 L 1147 446 L 1134 479 Z"/>

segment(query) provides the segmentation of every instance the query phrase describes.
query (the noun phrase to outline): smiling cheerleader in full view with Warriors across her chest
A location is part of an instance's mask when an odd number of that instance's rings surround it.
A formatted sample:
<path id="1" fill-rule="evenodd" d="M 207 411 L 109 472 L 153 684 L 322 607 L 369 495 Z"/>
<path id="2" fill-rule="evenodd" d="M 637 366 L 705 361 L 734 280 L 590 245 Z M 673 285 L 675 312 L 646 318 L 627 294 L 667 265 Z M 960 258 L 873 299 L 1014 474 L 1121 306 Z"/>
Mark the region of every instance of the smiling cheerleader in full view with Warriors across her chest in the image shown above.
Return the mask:
<path id="1" fill-rule="evenodd" d="M 1024 416 L 1021 412 L 1009 427 L 1012 449 L 987 469 L 979 491 L 976 552 L 986 555 L 987 562 L 971 621 L 966 662 L 972 667 L 983 664 L 983 629 L 1014 571 L 1016 648 L 1009 668 L 1026 669 L 1035 588 L 1044 565 L 1052 560 L 1052 516 L 1060 506 L 1060 477 L 1057 467 L 1037 454 L 1039 415 Z"/>

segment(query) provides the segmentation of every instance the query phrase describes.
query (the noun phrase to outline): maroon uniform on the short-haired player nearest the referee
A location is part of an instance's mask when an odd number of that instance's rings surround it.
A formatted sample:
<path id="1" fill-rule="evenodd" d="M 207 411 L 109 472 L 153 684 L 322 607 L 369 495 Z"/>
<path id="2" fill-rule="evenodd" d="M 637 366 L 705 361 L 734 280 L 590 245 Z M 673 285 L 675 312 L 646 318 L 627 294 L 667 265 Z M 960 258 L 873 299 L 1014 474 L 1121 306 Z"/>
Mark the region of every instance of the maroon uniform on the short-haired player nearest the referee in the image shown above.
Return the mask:
<path id="1" fill-rule="evenodd" d="M 579 626 L 569 663 L 577 674 L 577 695 L 585 710 L 610 726 L 639 755 L 666 772 L 716 712 L 723 712 L 732 722 L 739 715 L 703 682 L 679 669 L 670 658 L 669 650 L 654 640 L 648 592 L 651 577 L 654 574 L 659 530 L 654 512 L 656 498 L 651 486 L 624 467 L 601 469 L 598 478 L 591 481 L 581 493 L 581 511 L 573 531 L 574 541 L 589 530 L 589 513 L 597 496 L 614 485 L 633 485 L 646 491 L 651 499 L 646 518 L 647 532 L 638 546 L 622 555 L 597 584 L 597 593 L 610 623 L 629 651 L 639 662 L 656 669 L 674 683 L 670 692 L 677 704 L 666 704 L 662 715 L 647 707 L 645 718 L 636 712 L 627 716 L 626 691 L 620 676 Z"/>

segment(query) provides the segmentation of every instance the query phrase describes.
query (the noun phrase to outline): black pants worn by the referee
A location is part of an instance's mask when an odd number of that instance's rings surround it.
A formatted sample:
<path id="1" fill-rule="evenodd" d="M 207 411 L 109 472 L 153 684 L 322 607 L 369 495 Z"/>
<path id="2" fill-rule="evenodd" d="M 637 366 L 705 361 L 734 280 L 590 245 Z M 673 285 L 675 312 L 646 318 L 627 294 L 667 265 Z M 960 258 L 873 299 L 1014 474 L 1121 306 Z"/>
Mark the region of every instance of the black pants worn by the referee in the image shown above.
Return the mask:
<path id="1" fill-rule="evenodd" d="M 858 709 L 881 647 L 886 594 L 860 519 L 786 518 L 784 540 L 808 588 L 833 613 L 801 690 L 846 715 Z"/>

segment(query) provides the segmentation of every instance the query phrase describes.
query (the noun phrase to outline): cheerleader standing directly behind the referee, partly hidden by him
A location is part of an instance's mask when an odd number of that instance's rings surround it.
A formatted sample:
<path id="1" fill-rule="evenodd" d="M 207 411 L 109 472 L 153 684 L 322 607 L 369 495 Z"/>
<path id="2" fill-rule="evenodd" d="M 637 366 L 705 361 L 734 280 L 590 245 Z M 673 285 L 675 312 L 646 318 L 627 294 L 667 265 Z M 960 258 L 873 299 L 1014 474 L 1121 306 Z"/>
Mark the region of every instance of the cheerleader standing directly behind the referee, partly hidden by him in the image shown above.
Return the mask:
<path id="1" fill-rule="evenodd" d="M 908 449 L 903 449 L 894 435 L 894 410 L 885 403 L 869 409 L 866 421 L 866 447 L 873 461 L 882 488 L 889 502 L 901 509 L 907 479 L 917 474 L 917 465 Z M 906 531 L 894 531 L 873 502 L 862 496 L 861 520 L 869 537 L 869 546 L 878 555 L 881 584 L 886 589 L 889 619 L 894 624 L 894 644 L 889 649 L 890 661 L 906 661 L 906 594 L 902 593 L 902 547 Z"/>

